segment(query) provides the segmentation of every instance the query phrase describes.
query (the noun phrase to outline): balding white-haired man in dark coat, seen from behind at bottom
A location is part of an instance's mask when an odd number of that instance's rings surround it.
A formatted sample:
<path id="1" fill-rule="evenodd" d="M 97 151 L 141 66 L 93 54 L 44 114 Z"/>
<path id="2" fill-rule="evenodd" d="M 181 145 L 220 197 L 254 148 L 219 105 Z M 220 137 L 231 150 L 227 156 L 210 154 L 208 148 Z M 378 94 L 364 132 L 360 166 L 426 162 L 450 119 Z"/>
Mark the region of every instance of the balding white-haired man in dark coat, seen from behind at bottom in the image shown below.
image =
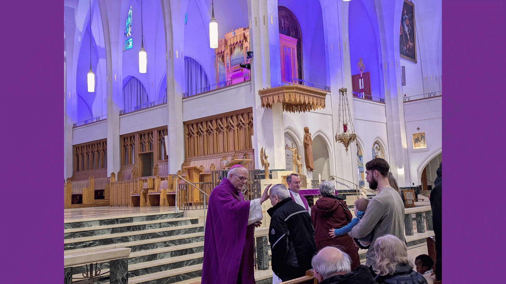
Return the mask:
<path id="1" fill-rule="evenodd" d="M 377 284 L 369 267 L 359 265 L 351 271 L 350 257 L 338 248 L 321 249 L 311 265 L 320 284 Z"/>

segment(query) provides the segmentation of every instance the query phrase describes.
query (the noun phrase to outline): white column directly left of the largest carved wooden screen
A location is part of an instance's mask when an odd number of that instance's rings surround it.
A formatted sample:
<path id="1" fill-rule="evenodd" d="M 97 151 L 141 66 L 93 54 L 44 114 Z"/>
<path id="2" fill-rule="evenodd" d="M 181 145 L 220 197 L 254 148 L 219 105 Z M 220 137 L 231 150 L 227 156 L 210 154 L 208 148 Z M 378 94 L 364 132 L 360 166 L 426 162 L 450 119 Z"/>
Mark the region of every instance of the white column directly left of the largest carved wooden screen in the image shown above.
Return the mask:
<path id="1" fill-rule="evenodd" d="M 184 29 L 180 27 L 179 14 L 175 13 L 173 15 L 172 13 L 172 11 L 180 11 L 180 5 L 179 1 L 161 0 L 167 54 L 167 155 L 169 173 L 176 173 L 180 170 L 185 158 L 182 102 L 184 60 L 180 54 Z M 176 58 L 176 51 L 178 51 L 178 58 Z"/>

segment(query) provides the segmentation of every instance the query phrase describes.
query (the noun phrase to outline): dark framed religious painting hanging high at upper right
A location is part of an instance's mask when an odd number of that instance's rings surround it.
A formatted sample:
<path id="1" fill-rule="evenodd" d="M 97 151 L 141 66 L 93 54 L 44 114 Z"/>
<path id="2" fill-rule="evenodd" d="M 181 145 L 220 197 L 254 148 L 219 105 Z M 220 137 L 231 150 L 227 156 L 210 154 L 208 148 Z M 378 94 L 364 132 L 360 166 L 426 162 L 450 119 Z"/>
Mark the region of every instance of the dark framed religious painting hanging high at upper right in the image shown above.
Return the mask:
<path id="1" fill-rule="evenodd" d="M 414 4 L 407 0 L 402 5 L 399 53 L 402 58 L 416 63 Z"/>

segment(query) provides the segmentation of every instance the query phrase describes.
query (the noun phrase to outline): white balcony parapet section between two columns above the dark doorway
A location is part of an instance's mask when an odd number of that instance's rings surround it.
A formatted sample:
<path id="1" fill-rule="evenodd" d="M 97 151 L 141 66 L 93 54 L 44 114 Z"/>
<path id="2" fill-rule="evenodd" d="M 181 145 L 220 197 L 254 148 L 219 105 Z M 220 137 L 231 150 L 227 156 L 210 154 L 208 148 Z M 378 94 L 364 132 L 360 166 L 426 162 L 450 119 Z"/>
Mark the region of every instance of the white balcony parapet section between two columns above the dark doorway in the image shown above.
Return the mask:
<path id="1" fill-rule="evenodd" d="M 119 116 L 119 135 L 167 125 L 167 105 Z"/>

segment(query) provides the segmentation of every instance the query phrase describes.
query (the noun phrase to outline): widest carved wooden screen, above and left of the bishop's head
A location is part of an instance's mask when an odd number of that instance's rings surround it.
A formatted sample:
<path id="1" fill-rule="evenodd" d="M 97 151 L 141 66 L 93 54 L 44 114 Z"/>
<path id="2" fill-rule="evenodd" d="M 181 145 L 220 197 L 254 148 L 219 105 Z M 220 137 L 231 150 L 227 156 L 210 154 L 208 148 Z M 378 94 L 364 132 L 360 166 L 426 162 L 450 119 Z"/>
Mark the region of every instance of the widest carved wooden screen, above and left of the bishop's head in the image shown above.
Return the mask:
<path id="1" fill-rule="evenodd" d="M 251 108 L 187 121 L 185 157 L 251 149 Z"/>

